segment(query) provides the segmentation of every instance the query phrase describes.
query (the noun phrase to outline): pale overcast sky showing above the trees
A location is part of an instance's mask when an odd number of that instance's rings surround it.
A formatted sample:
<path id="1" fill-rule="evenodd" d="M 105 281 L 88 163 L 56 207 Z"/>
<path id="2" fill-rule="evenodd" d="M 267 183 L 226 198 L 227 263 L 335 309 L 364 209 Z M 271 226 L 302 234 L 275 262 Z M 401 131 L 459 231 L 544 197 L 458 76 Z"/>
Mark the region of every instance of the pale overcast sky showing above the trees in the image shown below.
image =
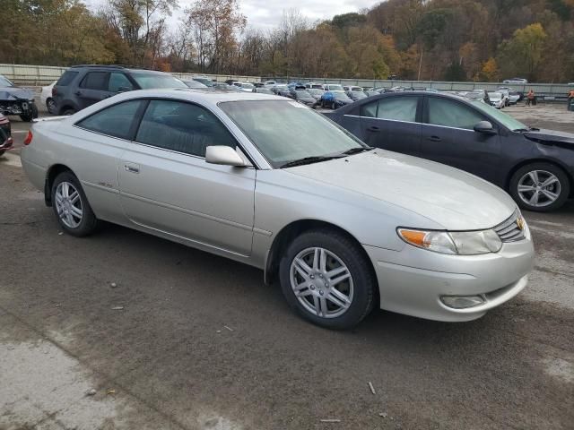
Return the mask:
<path id="1" fill-rule="evenodd" d="M 271 28 L 281 21 L 283 9 L 295 8 L 306 16 L 309 22 L 330 19 L 334 15 L 359 12 L 365 7 L 380 3 L 381 0 L 238 0 L 241 12 L 248 18 L 248 26 L 260 29 Z M 170 28 L 175 28 L 183 9 L 194 0 L 179 0 L 179 10 L 169 18 Z M 92 9 L 97 9 L 106 0 L 84 0 Z"/>

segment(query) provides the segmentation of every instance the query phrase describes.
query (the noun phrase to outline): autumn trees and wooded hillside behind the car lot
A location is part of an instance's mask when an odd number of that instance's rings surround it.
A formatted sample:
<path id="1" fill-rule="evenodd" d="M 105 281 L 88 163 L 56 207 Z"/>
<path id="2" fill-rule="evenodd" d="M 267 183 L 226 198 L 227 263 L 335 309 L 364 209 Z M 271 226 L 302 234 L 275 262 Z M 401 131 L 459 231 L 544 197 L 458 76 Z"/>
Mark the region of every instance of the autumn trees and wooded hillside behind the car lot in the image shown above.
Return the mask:
<path id="1" fill-rule="evenodd" d="M 384 79 L 574 81 L 574 0 L 388 0 L 272 30 L 236 0 L 2 0 L 0 63 L 136 64 L 171 71 Z"/>

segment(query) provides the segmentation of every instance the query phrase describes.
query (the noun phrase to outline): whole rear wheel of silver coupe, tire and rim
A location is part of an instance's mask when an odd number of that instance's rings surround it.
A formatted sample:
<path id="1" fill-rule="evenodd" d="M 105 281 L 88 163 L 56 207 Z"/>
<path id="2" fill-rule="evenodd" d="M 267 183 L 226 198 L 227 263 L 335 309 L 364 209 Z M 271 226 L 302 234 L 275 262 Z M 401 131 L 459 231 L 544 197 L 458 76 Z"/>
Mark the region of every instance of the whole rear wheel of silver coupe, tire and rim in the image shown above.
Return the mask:
<path id="1" fill-rule="evenodd" d="M 54 180 L 50 193 L 57 222 L 67 234 L 83 237 L 95 231 L 98 227 L 98 219 L 91 210 L 80 181 L 72 172 L 60 173 Z M 76 210 L 79 209 L 80 216 L 72 209 L 73 207 Z M 62 211 L 61 214 L 58 213 L 59 211 Z"/>

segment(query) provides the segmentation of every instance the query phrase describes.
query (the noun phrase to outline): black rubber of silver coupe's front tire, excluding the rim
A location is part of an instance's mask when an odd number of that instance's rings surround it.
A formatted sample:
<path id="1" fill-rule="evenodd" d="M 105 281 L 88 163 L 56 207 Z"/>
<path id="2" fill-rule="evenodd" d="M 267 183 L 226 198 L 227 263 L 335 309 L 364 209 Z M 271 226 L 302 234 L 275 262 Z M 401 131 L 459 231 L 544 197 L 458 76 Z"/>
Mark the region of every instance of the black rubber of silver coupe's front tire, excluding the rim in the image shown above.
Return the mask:
<path id="1" fill-rule="evenodd" d="M 291 288 L 290 270 L 293 258 L 300 251 L 314 246 L 320 246 L 337 255 L 351 271 L 353 281 L 352 304 L 344 314 L 335 318 L 322 318 L 310 314 L 300 305 Z M 374 305 L 374 297 L 376 297 L 377 283 L 370 262 L 361 252 L 360 245 L 356 245 L 351 238 L 328 229 L 311 230 L 303 233 L 288 245 L 279 264 L 279 280 L 283 296 L 291 308 L 311 323 L 328 329 L 352 329 L 370 313 Z"/>

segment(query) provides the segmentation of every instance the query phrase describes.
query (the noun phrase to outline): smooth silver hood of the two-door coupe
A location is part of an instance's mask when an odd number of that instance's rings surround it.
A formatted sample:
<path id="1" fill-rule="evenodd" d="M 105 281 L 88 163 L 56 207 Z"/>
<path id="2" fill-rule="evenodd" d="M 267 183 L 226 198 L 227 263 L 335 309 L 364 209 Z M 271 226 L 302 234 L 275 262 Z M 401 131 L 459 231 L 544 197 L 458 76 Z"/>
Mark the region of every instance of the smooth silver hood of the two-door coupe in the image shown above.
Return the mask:
<path id="1" fill-rule="evenodd" d="M 400 206 L 448 230 L 491 228 L 517 207 L 509 194 L 477 176 L 387 150 L 285 170 Z"/>

